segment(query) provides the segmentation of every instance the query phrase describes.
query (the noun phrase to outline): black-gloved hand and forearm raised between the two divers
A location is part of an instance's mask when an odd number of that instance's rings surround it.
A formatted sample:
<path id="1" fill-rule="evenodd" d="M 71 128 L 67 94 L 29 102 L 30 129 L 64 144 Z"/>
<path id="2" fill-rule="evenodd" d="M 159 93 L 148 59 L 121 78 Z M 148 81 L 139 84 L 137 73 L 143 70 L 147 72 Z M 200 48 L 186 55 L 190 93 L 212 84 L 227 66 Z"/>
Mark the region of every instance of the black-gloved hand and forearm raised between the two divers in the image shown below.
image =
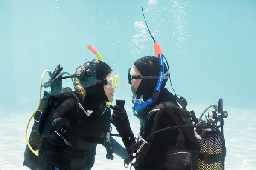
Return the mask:
<path id="1" fill-rule="evenodd" d="M 113 114 L 109 119 L 110 122 L 115 125 L 116 130 L 120 134 L 122 141 L 125 144 L 125 147 L 131 146 L 131 144 L 135 143 L 136 138 L 131 131 L 130 122 L 124 108 L 115 105 L 113 107 Z"/>

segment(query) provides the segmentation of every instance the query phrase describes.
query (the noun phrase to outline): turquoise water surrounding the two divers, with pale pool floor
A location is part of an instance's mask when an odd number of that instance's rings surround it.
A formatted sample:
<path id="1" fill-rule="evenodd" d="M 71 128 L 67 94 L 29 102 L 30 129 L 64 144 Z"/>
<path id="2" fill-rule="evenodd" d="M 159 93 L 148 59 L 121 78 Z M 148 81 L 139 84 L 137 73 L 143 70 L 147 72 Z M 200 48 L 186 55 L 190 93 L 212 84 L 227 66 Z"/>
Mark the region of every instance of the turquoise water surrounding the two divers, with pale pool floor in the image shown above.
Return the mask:
<path id="1" fill-rule="evenodd" d="M 41 74 L 58 64 L 73 73 L 95 58 L 89 44 L 120 75 L 114 98 L 126 100 L 138 132 L 127 70 L 136 59 L 154 55 L 141 7 L 169 62 L 172 85 L 189 110 L 199 116 L 223 99 L 229 113 L 226 170 L 256 169 L 255 1 L 5 0 L 0 2 L 0 170 L 28 169 L 22 165 L 24 133 L 38 105 Z M 46 74 L 44 82 L 48 79 Z M 64 86 L 71 83 L 64 80 Z M 170 83 L 167 88 L 171 91 Z M 99 146 L 93 170 L 98 169 L 125 168 L 118 156 L 105 159 Z"/>

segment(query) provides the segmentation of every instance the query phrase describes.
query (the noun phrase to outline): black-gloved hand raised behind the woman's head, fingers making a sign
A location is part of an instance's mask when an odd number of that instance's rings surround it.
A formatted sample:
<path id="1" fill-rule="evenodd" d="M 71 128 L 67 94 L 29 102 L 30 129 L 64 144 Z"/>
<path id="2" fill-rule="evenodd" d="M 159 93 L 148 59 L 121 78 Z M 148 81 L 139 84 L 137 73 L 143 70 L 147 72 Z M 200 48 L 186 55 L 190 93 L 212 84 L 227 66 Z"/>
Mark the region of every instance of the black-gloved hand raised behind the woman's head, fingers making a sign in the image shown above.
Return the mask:
<path id="1" fill-rule="evenodd" d="M 55 70 L 53 71 L 52 77 L 50 79 L 51 85 L 51 94 L 52 96 L 59 97 L 62 91 L 62 73 L 63 67 L 60 64 L 57 65 Z"/>

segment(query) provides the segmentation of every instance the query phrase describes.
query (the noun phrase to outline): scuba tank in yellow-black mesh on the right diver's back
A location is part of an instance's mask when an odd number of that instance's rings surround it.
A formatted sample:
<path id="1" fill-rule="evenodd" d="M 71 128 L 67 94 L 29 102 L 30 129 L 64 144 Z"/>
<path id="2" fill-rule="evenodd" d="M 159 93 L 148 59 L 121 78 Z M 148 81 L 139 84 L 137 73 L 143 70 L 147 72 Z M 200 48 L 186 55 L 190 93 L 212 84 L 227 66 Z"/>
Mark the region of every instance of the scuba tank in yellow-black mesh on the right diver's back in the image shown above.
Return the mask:
<path id="1" fill-rule="evenodd" d="M 195 142 L 201 147 L 196 170 L 224 170 L 226 147 L 223 127 L 220 131 L 216 125 L 219 121 L 224 124 L 223 118 L 227 118 L 227 111 L 222 111 L 222 99 L 219 100 L 218 107 L 213 105 L 213 108 L 215 111 L 207 113 L 205 121 L 197 122 L 199 126 L 212 126 L 212 128 L 194 128 Z"/>

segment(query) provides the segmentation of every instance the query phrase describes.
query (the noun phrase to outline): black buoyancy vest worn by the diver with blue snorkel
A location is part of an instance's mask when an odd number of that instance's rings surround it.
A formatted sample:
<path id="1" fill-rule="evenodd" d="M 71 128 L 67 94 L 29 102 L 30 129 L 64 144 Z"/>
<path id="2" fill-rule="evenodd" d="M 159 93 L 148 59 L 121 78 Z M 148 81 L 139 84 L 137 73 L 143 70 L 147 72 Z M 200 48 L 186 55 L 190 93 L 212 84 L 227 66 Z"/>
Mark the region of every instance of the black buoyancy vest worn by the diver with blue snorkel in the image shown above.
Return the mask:
<path id="1" fill-rule="evenodd" d="M 190 123 L 190 113 L 181 108 L 178 108 L 171 102 L 162 102 L 155 106 L 147 114 L 144 119 L 143 128 L 141 131 L 145 130 L 148 120 L 152 115 L 155 115 L 153 128 L 151 134 L 156 132 L 158 120 L 161 114 L 168 114 L 175 120 L 177 126 L 191 125 Z M 166 159 L 163 163 L 162 169 L 166 170 L 195 170 L 196 163 L 198 160 L 198 155 L 200 153 L 200 146 L 195 142 L 194 130 L 193 128 L 178 128 L 178 137 L 176 146 L 169 146 Z M 127 149 L 131 153 L 136 153 L 136 155 L 131 161 L 133 166 L 138 166 L 141 161 L 145 159 L 151 143 L 154 137 L 150 139 L 145 139 L 148 143 L 146 144 L 143 140 L 138 141 Z"/>

